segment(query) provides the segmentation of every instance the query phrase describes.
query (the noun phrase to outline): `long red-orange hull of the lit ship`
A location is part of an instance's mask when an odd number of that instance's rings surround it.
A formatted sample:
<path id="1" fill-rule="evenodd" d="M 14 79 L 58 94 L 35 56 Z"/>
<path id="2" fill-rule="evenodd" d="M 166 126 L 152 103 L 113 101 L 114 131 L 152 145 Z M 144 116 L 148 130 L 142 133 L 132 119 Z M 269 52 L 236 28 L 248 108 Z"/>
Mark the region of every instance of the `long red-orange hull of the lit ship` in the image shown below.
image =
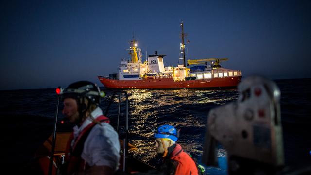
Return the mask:
<path id="1" fill-rule="evenodd" d="M 173 78 L 142 79 L 142 80 L 116 80 L 98 76 L 105 88 L 110 89 L 181 89 L 206 88 L 228 89 L 236 88 L 241 76 L 221 77 L 201 80 L 173 81 Z"/>

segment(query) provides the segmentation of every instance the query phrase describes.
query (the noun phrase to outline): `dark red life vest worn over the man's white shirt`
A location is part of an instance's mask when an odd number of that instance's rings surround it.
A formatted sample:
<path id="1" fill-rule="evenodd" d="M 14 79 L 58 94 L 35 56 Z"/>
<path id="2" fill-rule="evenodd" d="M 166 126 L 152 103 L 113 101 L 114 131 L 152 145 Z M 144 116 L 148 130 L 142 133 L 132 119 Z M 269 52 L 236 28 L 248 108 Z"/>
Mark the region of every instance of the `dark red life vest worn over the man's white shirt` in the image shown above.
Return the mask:
<path id="1" fill-rule="evenodd" d="M 104 115 L 98 116 L 95 120 L 101 123 L 110 123 L 109 118 Z M 65 154 L 66 166 L 65 169 L 63 169 L 64 174 L 72 175 L 74 172 L 84 171 L 87 168 L 88 165 L 82 159 L 81 154 L 84 148 L 86 138 L 96 124 L 97 124 L 96 122 L 88 124 L 78 135 L 72 147 L 71 142 L 74 139 L 74 137 L 73 133 L 71 134 L 66 146 L 66 154 Z"/>

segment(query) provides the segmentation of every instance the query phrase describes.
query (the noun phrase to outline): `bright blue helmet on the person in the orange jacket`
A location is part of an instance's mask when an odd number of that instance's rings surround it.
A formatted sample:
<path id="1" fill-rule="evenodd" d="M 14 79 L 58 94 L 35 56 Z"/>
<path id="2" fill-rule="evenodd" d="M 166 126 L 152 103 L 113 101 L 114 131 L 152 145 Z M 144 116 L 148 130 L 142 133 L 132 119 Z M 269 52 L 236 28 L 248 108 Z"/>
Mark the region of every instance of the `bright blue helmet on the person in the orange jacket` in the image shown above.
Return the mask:
<path id="1" fill-rule="evenodd" d="M 157 138 L 168 138 L 173 141 L 177 141 L 179 137 L 179 131 L 171 125 L 164 124 L 157 128 L 154 137 Z"/>

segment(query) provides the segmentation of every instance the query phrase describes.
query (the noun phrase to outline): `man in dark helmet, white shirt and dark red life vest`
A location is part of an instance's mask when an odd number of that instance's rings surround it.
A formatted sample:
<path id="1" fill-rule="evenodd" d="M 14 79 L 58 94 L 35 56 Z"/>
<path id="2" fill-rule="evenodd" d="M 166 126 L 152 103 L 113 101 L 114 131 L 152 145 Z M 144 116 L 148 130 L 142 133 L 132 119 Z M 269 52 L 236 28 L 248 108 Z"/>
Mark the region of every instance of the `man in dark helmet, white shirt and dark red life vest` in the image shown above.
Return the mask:
<path id="1" fill-rule="evenodd" d="M 112 175 L 119 167 L 119 136 L 98 107 L 101 94 L 88 81 L 72 83 L 61 92 L 63 114 L 76 124 L 67 143 L 63 174 Z"/>

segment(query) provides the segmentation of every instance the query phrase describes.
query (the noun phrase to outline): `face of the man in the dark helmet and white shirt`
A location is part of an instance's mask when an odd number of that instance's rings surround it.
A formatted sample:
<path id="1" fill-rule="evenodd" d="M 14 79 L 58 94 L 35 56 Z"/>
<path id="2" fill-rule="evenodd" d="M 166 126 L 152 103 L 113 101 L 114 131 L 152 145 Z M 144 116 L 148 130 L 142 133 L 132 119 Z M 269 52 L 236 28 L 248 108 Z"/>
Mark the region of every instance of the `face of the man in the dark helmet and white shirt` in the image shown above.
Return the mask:
<path id="1" fill-rule="evenodd" d="M 79 112 L 77 101 L 73 98 L 64 99 L 64 109 L 63 114 L 72 123 L 77 123 L 79 121 Z"/>

